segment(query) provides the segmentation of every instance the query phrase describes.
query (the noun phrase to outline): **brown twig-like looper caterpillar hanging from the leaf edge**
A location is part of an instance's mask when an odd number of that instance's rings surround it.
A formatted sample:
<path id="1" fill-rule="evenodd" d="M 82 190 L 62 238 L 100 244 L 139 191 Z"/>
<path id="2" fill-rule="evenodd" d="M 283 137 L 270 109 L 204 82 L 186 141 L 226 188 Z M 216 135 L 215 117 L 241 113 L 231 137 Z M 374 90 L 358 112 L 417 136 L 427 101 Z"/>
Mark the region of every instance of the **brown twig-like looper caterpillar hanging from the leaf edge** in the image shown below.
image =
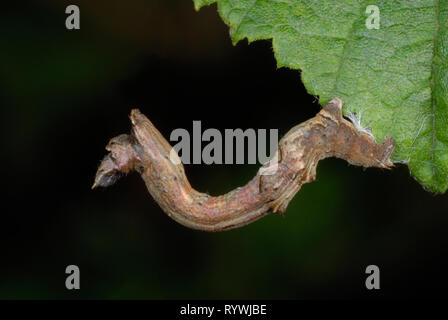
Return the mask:
<path id="1" fill-rule="evenodd" d="M 314 118 L 292 128 L 279 142 L 278 167 L 261 172 L 244 187 L 212 197 L 194 190 L 184 167 L 170 160 L 172 147 L 140 111 L 132 110 L 132 134 L 110 140 L 110 152 L 101 162 L 96 186 L 113 184 L 120 174 L 139 172 L 148 191 L 168 216 L 184 226 L 222 231 L 251 223 L 268 213 L 285 212 L 304 183 L 316 178 L 319 160 L 337 157 L 363 167 L 389 169 L 394 141 L 378 144 L 342 117 L 343 102 L 334 98 Z M 271 167 L 275 168 L 275 167 Z"/>

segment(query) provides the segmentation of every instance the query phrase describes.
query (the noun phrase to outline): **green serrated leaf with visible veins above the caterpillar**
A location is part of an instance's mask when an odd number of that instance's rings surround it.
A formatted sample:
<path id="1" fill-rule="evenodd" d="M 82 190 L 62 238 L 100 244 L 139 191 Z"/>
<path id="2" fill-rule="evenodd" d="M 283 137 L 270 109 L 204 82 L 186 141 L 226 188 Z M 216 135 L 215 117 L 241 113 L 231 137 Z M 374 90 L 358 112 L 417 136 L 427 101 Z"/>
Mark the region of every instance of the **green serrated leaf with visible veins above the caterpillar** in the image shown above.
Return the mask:
<path id="1" fill-rule="evenodd" d="M 272 39 L 278 67 L 302 70 L 321 104 L 343 99 L 378 142 L 395 139 L 394 162 L 448 188 L 448 0 L 194 0 L 213 2 L 234 43 Z"/>

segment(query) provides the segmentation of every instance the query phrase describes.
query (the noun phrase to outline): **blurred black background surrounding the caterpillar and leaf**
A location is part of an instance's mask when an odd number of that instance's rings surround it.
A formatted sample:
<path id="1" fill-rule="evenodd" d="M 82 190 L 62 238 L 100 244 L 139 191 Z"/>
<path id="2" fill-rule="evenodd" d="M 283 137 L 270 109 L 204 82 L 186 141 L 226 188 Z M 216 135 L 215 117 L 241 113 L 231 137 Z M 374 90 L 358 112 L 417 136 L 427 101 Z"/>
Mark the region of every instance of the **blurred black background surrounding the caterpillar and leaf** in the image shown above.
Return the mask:
<path id="1" fill-rule="evenodd" d="M 65 29 L 65 7 L 81 30 Z M 109 138 L 138 107 L 173 129 L 278 128 L 319 111 L 270 41 L 232 46 L 216 6 L 190 1 L 2 4 L 3 299 L 444 297 L 448 198 L 391 172 L 322 161 L 285 216 L 218 234 L 170 220 L 132 174 L 91 191 Z M 187 165 L 216 195 L 257 165 Z M 81 290 L 65 289 L 65 267 Z M 365 268 L 381 289 L 365 289 Z"/>

